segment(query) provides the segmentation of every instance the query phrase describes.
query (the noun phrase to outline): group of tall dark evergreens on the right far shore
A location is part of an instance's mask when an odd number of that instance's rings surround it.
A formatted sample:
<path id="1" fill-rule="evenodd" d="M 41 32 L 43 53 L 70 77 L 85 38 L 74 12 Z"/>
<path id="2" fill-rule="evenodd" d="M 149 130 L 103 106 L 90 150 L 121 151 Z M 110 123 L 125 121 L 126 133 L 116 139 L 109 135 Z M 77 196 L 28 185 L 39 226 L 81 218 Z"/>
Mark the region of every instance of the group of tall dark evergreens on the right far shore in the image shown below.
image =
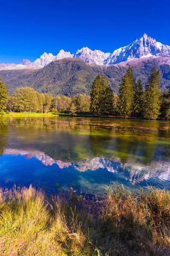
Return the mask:
<path id="1" fill-rule="evenodd" d="M 117 113 L 124 118 L 137 116 L 157 119 L 160 116 L 169 119 L 170 87 L 161 93 L 160 82 L 160 70 L 153 67 L 143 86 L 140 78 L 136 81 L 129 66 L 122 77 L 117 96 L 113 95 L 106 77 L 96 76 L 91 90 L 90 109 L 96 116 Z"/>

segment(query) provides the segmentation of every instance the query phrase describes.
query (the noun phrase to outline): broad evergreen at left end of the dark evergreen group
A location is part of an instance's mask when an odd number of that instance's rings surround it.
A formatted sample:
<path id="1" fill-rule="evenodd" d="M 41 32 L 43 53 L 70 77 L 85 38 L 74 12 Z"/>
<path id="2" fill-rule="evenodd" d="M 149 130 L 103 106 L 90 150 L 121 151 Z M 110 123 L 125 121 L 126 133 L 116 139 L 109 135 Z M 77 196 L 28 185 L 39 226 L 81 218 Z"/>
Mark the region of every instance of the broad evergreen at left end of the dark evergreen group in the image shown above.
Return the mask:
<path id="1" fill-rule="evenodd" d="M 96 116 L 113 112 L 113 91 L 108 83 L 108 79 L 101 74 L 92 84 L 90 110 Z"/>

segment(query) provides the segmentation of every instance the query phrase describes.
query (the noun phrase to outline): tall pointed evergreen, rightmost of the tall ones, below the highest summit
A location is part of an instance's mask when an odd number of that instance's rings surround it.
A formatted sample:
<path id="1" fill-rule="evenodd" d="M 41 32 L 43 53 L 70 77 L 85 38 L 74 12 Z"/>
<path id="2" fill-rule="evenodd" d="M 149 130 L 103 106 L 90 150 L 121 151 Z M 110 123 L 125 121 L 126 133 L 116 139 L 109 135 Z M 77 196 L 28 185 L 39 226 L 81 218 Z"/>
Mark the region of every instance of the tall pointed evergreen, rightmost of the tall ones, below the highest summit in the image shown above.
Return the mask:
<path id="1" fill-rule="evenodd" d="M 143 115 L 147 119 L 156 119 L 160 114 L 161 108 L 161 89 L 160 71 L 155 67 L 150 71 L 147 79 L 147 85 L 144 91 L 144 108 Z"/>

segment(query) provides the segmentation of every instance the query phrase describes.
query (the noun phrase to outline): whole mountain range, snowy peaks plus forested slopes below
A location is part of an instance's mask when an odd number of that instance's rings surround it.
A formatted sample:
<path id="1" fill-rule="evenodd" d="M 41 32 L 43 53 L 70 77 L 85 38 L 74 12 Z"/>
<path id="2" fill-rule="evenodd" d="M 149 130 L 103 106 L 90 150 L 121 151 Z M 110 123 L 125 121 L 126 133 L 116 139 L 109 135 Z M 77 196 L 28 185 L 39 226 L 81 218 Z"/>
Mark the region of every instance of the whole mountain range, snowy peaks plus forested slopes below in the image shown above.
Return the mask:
<path id="1" fill-rule="evenodd" d="M 170 84 L 170 46 L 144 34 L 126 47 L 105 53 L 83 47 L 75 54 L 63 49 L 57 55 L 44 53 L 34 62 L 23 59 L 21 64 L 0 64 L 0 76 L 10 93 L 17 87 L 30 86 L 40 93 L 71 96 L 88 93 L 98 73 L 104 73 L 114 93 L 127 66 L 131 64 L 136 78 L 146 83 L 153 66 L 161 70 L 161 87 Z"/>

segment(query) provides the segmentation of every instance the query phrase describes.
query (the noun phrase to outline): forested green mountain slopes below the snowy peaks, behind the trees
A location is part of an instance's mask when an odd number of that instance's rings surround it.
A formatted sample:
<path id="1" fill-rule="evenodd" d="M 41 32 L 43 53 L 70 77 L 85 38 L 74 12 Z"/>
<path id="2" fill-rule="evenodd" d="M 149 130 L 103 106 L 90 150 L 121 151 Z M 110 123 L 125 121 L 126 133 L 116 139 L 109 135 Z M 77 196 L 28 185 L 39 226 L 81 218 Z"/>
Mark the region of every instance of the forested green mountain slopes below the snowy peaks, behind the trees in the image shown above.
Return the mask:
<path id="1" fill-rule="evenodd" d="M 161 87 L 170 84 L 170 66 L 162 64 L 158 59 L 132 61 L 130 64 L 136 78 L 140 76 L 144 84 L 153 66 L 161 70 Z M 89 94 L 96 75 L 102 72 L 108 77 L 114 93 L 118 93 L 126 68 L 126 64 L 98 66 L 88 65 L 79 58 L 65 58 L 53 61 L 39 70 L 1 70 L 0 76 L 8 84 L 10 93 L 18 87 L 28 86 L 39 93 L 72 96 L 79 93 Z"/>

